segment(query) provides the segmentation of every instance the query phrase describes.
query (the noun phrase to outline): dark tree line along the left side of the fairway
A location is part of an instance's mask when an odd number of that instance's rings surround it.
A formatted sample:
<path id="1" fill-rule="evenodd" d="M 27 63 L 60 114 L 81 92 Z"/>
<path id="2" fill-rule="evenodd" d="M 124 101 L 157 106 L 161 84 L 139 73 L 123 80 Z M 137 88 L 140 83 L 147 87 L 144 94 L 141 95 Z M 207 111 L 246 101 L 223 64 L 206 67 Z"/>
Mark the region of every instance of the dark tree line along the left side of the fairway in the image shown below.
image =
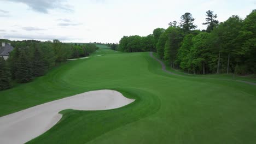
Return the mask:
<path id="1" fill-rule="evenodd" d="M 0 90 L 11 88 L 13 81 L 30 82 L 69 58 L 85 57 L 95 52 L 95 44 L 66 44 L 59 40 L 11 41 L 14 50 L 4 61 L 0 57 Z"/>

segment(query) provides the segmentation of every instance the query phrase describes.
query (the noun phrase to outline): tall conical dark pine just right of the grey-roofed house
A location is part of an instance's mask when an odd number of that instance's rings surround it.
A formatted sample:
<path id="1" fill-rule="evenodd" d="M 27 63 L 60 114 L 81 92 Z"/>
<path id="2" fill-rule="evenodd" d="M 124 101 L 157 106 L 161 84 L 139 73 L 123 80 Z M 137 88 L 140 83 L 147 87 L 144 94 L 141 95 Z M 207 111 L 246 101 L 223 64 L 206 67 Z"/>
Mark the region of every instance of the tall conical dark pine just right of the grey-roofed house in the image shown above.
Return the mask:
<path id="1" fill-rule="evenodd" d="M 18 82 L 30 82 L 32 80 L 31 62 L 27 57 L 25 49 L 20 50 L 19 61 L 17 63 L 16 79 Z"/>

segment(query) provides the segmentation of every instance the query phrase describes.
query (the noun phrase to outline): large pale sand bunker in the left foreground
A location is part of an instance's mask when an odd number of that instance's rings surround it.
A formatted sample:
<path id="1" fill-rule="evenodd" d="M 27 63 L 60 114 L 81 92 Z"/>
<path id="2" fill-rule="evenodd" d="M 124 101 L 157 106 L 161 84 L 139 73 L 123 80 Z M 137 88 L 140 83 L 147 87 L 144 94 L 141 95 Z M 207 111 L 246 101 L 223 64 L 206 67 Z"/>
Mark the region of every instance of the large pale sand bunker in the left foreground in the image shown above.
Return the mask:
<path id="1" fill-rule="evenodd" d="M 111 90 L 91 91 L 51 101 L 0 117 L 0 143 L 25 143 L 53 127 L 62 117 L 60 111 L 109 110 L 130 104 L 121 93 Z"/>

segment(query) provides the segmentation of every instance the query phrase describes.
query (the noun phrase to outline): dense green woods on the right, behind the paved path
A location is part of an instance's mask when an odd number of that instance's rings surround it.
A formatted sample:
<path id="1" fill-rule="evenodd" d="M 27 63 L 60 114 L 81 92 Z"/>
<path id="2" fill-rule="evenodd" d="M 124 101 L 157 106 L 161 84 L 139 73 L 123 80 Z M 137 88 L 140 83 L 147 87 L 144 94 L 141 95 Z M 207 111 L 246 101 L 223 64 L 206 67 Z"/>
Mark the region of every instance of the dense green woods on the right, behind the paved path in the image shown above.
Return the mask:
<path id="1" fill-rule="evenodd" d="M 197 30 L 190 13 L 156 28 L 147 37 L 124 36 L 121 52 L 157 52 L 172 68 L 192 74 L 256 73 L 256 10 L 245 19 L 237 15 L 220 22 L 213 11 L 206 12 L 206 30 Z"/>

